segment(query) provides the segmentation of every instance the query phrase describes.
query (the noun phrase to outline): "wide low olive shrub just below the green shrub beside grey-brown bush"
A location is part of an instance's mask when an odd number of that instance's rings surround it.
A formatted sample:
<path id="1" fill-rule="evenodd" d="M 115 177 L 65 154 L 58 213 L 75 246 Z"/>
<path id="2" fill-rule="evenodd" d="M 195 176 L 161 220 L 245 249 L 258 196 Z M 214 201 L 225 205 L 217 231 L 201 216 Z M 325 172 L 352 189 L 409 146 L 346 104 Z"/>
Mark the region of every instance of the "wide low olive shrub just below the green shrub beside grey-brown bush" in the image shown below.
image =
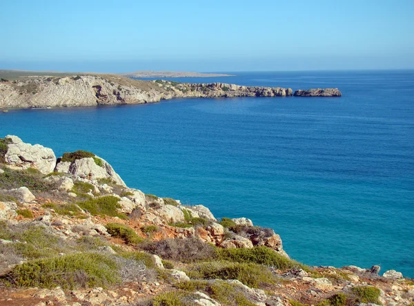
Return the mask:
<path id="1" fill-rule="evenodd" d="M 249 287 L 274 283 L 273 274 L 262 265 L 248 262 L 212 261 L 190 267 L 190 278 L 240 280 Z"/>

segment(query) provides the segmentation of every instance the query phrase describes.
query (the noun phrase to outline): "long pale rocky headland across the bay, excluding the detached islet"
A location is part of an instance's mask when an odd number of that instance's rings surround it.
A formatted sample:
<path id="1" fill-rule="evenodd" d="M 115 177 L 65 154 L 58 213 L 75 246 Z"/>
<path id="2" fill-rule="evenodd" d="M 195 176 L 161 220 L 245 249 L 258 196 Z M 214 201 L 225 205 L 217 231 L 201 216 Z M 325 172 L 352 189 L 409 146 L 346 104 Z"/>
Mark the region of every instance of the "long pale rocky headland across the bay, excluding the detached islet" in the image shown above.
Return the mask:
<path id="1" fill-rule="evenodd" d="M 291 96 L 290 88 L 139 81 L 117 75 L 36 77 L 0 82 L 0 108 L 144 104 L 177 97 Z"/>

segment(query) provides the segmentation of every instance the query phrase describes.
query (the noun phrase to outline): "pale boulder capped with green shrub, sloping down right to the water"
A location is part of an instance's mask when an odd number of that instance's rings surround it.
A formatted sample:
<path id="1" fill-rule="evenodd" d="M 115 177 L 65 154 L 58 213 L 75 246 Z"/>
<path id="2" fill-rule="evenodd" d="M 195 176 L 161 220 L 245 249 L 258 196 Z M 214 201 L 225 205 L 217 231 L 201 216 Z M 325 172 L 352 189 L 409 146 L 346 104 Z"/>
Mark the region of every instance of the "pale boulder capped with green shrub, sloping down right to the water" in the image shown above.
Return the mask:
<path id="1" fill-rule="evenodd" d="M 97 180 L 99 178 L 109 178 L 117 184 L 126 187 L 126 184 L 121 177 L 115 172 L 106 160 L 95 156 L 102 161 L 102 166 L 98 166 L 92 157 L 85 157 L 73 162 L 61 162 L 59 161 L 55 167 L 56 172 L 69 173 L 75 177 L 83 178 L 86 180 Z M 68 166 L 69 164 L 69 166 Z"/>

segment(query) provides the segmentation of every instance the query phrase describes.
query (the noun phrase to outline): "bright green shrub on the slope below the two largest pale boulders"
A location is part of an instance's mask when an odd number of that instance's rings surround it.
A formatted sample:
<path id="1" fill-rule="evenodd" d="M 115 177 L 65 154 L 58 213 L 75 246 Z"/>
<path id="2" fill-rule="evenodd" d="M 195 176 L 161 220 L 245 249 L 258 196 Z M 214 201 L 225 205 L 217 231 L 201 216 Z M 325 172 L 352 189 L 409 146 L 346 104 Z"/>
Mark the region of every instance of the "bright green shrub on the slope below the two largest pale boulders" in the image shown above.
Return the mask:
<path id="1" fill-rule="evenodd" d="M 77 202 L 81 209 L 85 209 L 94 216 L 110 216 L 126 219 L 125 215 L 118 213 L 117 209 L 120 208 L 119 198 L 113 195 L 106 195 L 99 198 L 86 200 L 84 202 Z"/>

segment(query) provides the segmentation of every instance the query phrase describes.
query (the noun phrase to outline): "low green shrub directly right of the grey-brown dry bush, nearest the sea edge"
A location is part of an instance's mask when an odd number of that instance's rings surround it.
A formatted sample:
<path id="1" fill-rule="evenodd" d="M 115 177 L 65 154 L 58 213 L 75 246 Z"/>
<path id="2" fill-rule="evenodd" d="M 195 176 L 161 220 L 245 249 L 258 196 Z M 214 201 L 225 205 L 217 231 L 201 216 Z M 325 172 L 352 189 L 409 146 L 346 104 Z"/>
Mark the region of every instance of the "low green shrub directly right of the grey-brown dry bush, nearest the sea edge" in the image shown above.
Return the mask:
<path id="1" fill-rule="evenodd" d="M 277 269 L 303 268 L 301 263 L 288 259 L 268 247 L 253 247 L 251 249 L 216 249 L 217 258 L 233 262 L 251 262 L 258 265 L 276 267 Z"/>

